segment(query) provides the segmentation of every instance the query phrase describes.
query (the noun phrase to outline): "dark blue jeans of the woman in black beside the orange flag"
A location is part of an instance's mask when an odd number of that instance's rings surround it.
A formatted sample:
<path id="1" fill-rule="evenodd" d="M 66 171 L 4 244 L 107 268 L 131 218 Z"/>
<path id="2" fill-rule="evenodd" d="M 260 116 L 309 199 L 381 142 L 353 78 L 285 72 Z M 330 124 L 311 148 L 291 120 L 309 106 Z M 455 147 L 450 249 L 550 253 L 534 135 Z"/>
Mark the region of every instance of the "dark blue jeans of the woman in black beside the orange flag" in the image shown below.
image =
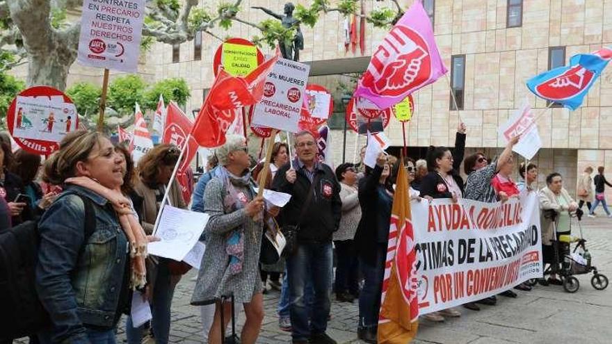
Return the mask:
<path id="1" fill-rule="evenodd" d="M 360 259 L 364 286 L 359 295 L 359 326 L 375 327 L 378 325 L 380 311 L 380 293 L 383 292 L 383 277 L 385 276 L 385 261 L 387 260 L 387 244 L 377 244 L 376 261 L 367 262 Z"/>

